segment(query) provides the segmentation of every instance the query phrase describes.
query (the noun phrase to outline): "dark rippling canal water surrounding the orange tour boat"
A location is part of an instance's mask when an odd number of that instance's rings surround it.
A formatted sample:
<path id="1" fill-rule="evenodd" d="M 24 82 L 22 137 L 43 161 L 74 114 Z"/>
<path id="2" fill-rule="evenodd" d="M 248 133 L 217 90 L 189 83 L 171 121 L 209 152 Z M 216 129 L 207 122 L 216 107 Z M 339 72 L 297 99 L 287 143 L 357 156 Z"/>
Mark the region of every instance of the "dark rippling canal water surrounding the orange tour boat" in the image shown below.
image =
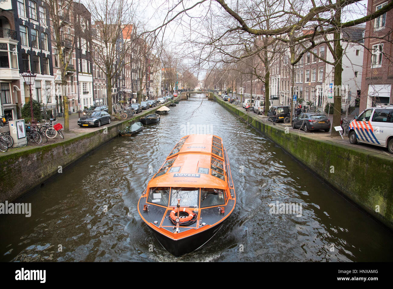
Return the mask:
<path id="1" fill-rule="evenodd" d="M 193 133 L 223 138 L 237 204 L 211 241 L 175 258 L 136 205 L 179 138 Z M 31 203 L 31 217 L 0 215 L 0 261 L 393 260 L 391 232 L 201 94 L 138 135 L 102 145 L 18 201 Z M 298 212 L 271 214 L 277 201 L 299 204 Z"/>

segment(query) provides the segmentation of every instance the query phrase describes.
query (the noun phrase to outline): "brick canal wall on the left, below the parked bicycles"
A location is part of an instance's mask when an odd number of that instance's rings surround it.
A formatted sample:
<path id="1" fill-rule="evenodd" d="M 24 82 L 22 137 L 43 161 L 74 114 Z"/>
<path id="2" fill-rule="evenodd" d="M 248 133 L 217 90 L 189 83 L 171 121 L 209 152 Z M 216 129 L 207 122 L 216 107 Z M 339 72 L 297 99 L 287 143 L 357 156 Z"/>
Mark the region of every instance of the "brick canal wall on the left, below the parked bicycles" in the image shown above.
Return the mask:
<path id="1" fill-rule="evenodd" d="M 179 98 L 175 98 L 172 102 L 180 100 Z M 164 105 L 169 103 L 171 102 Z M 138 121 L 141 117 L 154 112 L 155 109 L 143 111 L 129 120 L 112 122 L 97 131 L 83 133 L 55 144 L 20 147 L 14 153 L 0 155 L 0 203 L 15 201 L 24 193 L 56 175 L 59 166 L 64 169 L 90 151 L 118 136 L 119 130 L 130 125 L 132 121 Z"/>

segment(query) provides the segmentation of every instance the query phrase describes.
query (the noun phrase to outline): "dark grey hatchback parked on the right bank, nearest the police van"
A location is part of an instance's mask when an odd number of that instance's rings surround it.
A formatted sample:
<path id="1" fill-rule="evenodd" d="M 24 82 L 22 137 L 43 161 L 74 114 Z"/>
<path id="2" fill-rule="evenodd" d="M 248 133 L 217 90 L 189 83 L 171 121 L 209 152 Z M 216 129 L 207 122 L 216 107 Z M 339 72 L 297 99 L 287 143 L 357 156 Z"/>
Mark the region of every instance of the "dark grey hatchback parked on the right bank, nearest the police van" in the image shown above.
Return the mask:
<path id="1" fill-rule="evenodd" d="M 292 128 L 302 128 L 303 131 L 330 131 L 330 120 L 325 114 L 301 113 L 292 120 Z"/>

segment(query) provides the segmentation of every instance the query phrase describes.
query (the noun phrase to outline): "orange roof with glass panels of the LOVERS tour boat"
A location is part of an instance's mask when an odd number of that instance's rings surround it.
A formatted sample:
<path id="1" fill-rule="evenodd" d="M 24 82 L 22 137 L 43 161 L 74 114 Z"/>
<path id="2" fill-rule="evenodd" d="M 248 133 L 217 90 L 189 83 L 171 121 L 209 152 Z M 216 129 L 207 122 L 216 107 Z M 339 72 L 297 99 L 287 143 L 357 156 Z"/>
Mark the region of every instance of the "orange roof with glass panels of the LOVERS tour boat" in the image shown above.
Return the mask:
<path id="1" fill-rule="evenodd" d="M 222 139 L 211 134 L 191 134 L 181 138 L 150 180 L 148 188 L 227 189 L 223 149 Z"/>

